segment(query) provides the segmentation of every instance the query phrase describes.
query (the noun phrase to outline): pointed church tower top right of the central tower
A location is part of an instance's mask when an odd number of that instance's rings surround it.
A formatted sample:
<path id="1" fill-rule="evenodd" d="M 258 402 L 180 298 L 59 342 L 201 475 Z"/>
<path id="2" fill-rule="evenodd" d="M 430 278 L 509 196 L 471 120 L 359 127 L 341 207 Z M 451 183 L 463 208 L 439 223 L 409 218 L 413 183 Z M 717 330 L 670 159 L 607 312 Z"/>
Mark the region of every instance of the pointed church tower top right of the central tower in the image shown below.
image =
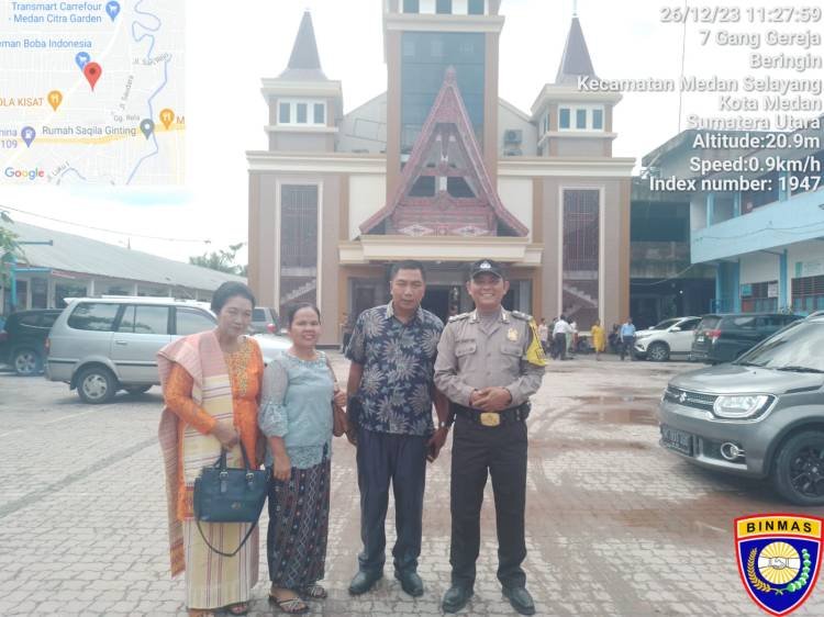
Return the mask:
<path id="1" fill-rule="evenodd" d="M 544 157 L 612 156 L 612 110 L 619 92 L 591 92 L 582 86 L 598 79 L 580 20 L 572 15 L 554 83 L 542 89 L 532 105 L 538 127 L 538 154 Z"/>

